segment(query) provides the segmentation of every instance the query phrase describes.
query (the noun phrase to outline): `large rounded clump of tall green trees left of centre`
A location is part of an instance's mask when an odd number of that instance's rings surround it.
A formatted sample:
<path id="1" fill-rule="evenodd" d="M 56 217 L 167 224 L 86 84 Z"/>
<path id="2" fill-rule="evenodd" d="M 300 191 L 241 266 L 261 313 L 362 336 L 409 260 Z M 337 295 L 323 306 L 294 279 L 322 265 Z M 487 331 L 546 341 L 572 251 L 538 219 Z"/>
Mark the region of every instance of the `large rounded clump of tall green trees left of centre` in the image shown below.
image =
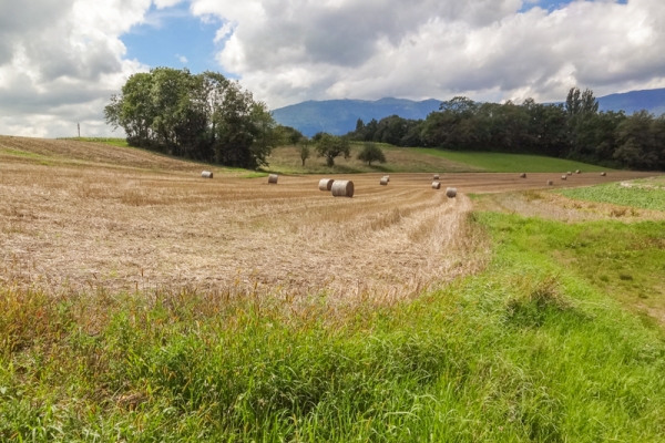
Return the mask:
<path id="1" fill-rule="evenodd" d="M 267 165 L 280 138 L 265 103 L 211 71 L 156 68 L 134 74 L 104 115 L 125 131 L 131 146 L 232 166 Z"/>

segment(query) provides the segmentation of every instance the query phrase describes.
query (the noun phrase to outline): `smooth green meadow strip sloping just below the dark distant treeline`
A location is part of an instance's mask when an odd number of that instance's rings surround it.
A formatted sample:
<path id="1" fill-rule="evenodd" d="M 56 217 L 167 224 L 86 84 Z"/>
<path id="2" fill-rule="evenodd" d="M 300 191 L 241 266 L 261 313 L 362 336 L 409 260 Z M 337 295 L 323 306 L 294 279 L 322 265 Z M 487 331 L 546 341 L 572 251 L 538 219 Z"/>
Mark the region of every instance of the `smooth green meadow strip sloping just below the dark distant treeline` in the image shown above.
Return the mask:
<path id="1" fill-rule="evenodd" d="M 456 152 L 426 147 L 409 147 L 411 152 L 446 158 L 488 173 L 565 173 L 569 171 L 601 172 L 606 167 L 589 165 L 564 158 L 525 154 L 502 154 L 488 152 Z"/>

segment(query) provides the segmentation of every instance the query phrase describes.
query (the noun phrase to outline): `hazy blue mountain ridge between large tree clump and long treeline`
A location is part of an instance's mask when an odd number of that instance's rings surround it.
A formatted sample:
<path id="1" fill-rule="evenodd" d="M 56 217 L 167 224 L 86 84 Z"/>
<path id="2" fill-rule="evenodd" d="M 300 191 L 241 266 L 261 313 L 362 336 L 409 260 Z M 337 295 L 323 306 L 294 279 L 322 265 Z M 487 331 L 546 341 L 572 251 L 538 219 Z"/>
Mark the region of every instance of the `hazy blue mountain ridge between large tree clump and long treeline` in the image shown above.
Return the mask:
<path id="1" fill-rule="evenodd" d="M 327 100 L 308 101 L 273 111 L 275 121 L 291 126 L 303 134 L 311 136 L 317 132 L 341 135 L 356 128 L 358 119 L 365 123 L 372 119 L 381 120 L 390 115 L 405 119 L 424 119 L 438 111 L 440 100 L 415 102 L 405 99 L 367 100 Z"/>

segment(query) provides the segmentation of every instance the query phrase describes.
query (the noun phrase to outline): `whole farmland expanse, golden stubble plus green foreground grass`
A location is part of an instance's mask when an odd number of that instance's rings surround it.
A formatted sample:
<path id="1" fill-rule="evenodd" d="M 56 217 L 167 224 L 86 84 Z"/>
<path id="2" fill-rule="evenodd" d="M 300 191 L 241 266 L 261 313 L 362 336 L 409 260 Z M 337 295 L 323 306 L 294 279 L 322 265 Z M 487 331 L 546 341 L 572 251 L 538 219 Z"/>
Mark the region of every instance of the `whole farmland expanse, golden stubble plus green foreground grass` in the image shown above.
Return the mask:
<path id="1" fill-rule="evenodd" d="M 659 182 L 440 172 L 0 137 L 0 440 L 656 441 Z"/>

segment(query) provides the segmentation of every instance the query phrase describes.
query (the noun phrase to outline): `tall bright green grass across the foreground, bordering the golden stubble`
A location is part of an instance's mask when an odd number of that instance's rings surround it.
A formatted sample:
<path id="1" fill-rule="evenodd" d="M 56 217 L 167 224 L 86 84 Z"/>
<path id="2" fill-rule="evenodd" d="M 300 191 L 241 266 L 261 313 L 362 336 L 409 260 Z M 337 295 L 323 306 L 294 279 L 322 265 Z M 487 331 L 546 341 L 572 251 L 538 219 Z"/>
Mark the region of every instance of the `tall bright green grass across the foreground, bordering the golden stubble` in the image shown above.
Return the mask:
<path id="1" fill-rule="evenodd" d="M 553 258 L 565 227 L 477 219 L 489 269 L 392 307 L 4 286 L 0 440 L 662 440 L 661 330 Z"/>

